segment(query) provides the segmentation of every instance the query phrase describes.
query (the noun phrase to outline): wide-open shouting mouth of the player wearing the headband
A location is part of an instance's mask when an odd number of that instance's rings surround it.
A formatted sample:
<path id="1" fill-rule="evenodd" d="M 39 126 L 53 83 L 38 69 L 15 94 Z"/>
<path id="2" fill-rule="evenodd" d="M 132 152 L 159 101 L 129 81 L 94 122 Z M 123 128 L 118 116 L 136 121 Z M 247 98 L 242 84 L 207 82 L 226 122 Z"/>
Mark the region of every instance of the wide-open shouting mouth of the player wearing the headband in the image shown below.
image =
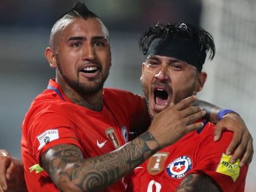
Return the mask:
<path id="1" fill-rule="evenodd" d="M 158 110 L 164 109 L 168 104 L 169 94 L 164 88 L 155 88 L 154 94 L 154 104 L 155 108 Z"/>

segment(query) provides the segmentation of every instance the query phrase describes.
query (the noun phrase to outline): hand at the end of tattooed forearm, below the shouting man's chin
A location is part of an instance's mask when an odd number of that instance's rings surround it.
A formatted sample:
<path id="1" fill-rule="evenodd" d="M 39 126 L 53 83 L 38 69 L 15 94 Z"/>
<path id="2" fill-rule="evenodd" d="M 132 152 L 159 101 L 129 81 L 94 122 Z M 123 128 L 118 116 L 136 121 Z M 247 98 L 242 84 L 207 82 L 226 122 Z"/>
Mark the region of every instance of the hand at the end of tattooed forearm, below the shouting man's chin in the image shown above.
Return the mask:
<path id="1" fill-rule="evenodd" d="M 155 115 L 148 131 L 158 141 L 161 148 L 175 143 L 186 133 L 203 127 L 203 123 L 194 123 L 205 115 L 202 107 L 190 106 L 195 99 L 195 96 L 190 96 L 176 105 L 170 104 L 169 107 Z"/>

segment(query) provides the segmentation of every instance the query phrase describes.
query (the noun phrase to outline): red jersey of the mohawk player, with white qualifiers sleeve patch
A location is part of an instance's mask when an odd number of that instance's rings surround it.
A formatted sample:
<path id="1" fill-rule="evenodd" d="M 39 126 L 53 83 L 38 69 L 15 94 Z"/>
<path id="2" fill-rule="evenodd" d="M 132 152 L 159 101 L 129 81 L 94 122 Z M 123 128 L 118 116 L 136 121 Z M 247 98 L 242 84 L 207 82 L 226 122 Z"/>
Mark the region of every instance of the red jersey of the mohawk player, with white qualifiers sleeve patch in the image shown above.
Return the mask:
<path id="1" fill-rule="evenodd" d="M 50 80 L 48 89 L 35 98 L 22 123 L 22 159 L 28 191 L 58 191 L 46 171 L 30 172 L 30 167 L 40 164 L 43 152 L 57 144 L 74 144 L 85 159 L 108 153 L 128 141 L 129 130 L 143 123 L 138 118 L 142 114 L 143 99 L 128 91 L 104 89 L 103 109 L 96 112 L 70 101 Z M 105 191 L 125 188 L 122 179 Z"/>

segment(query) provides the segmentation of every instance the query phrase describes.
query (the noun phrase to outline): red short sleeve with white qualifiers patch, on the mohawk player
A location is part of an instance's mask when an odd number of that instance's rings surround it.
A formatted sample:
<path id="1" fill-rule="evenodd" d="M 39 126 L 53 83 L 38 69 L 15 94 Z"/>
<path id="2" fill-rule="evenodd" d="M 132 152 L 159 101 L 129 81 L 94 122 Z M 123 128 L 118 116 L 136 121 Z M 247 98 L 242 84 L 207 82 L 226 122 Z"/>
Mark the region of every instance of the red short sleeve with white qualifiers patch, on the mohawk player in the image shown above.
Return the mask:
<path id="1" fill-rule="evenodd" d="M 33 156 L 40 163 L 40 156 L 58 144 L 74 144 L 83 152 L 75 132 L 75 124 L 61 114 L 48 112 L 36 117 L 28 128 L 28 141 Z"/>

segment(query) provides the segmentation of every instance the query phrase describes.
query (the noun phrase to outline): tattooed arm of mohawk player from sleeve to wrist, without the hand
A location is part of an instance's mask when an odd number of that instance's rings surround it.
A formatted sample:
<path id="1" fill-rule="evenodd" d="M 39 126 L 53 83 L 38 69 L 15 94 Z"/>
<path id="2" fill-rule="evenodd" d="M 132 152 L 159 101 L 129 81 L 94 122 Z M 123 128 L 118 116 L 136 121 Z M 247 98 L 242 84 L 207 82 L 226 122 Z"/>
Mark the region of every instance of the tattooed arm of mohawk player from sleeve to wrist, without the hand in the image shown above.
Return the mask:
<path id="1" fill-rule="evenodd" d="M 83 159 L 79 148 L 60 144 L 41 156 L 41 164 L 59 190 L 98 191 L 124 177 L 160 149 L 146 131 L 115 151 Z"/>

